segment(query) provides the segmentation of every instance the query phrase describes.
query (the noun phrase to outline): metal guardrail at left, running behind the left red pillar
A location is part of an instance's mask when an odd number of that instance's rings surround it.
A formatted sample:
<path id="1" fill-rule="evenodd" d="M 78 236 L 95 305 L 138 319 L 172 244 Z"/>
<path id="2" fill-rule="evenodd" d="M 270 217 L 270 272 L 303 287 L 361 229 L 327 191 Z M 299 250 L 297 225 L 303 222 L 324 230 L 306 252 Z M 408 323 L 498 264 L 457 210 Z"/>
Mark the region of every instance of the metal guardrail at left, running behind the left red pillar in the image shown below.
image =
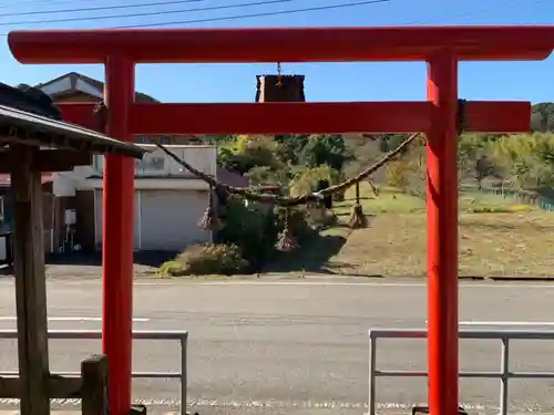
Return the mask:
<path id="1" fill-rule="evenodd" d="M 16 330 L 0 330 L 0 339 L 17 339 Z M 50 330 L 48 338 L 52 340 L 100 340 L 100 330 Z M 133 331 L 134 340 L 170 340 L 177 341 L 181 346 L 181 371 L 179 372 L 133 372 L 132 377 L 138 378 L 178 378 L 181 380 L 181 414 L 186 415 L 187 393 L 187 342 L 186 331 Z M 61 376 L 81 376 L 80 372 L 57 372 Z M 0 376 L 19 376 L 19 372 L 0 372 Z"/>

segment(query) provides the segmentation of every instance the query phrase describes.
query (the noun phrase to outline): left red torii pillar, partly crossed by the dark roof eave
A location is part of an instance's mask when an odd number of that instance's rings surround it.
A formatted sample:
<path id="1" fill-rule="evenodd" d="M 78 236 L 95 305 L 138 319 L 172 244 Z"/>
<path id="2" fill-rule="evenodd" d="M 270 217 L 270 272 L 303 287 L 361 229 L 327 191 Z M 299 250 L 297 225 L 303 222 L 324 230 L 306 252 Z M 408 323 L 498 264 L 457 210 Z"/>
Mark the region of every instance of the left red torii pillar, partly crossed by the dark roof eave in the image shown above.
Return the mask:
<path id="1" fill-rule="evenodd" d="M 104 87 L 106 134 L 133 141 L 129 120 L 134 101 L 134 62 L 129 56 L 106 58 Z M 117 415 L 126 415 L 131 405 L 134 170 L 134 160 L 129 157 L 104 157 L 102 351 L 107 355 L 110 406 Z"/>

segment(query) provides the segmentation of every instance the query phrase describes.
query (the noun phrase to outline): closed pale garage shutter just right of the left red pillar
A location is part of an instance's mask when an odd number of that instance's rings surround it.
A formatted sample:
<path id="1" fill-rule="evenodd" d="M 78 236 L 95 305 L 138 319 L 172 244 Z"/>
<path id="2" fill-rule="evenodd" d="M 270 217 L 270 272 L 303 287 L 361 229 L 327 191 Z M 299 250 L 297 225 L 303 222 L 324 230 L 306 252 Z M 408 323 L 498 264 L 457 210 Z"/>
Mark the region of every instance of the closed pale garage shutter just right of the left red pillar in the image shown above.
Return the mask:
<path id="1" fill-rule="evenodd" d="M 141 249 L 181 251 L 207 242 L 211 232 L 198 228 L 206 210 L 205 190 L 142 190 Z"/>

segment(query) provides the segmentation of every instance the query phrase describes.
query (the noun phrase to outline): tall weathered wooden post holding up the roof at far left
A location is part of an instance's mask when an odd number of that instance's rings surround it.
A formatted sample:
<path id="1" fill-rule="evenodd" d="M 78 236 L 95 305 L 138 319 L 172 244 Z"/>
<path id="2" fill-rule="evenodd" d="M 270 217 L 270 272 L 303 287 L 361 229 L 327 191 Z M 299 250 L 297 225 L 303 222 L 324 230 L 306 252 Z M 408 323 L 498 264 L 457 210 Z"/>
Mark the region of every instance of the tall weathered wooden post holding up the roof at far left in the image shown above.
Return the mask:
<path id="1" fill-rule="evenodd" d="M 50 414 L 42 188 L 40 172 L 32 169 L 37 151 L 11 146 L 18 160 L 11 187 L 21 415 Z"/>

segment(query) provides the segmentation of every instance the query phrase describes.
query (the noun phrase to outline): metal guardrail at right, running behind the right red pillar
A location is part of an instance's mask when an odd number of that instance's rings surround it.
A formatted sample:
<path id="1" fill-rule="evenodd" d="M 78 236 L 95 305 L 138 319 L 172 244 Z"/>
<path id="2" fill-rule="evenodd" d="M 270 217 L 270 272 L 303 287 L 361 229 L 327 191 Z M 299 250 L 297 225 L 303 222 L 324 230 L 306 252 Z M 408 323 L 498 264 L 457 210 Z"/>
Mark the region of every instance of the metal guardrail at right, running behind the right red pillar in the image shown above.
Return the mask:
<path id="1" fill-rule="evenodd" d="M 427 377 L 421 371 L 381 371 L 377 366 L 377 339 L 427 339 L 427 330 L 371 329 L 369 330 L 369 403 L 368 415 L 376 415 L 377 377 Z M 502 353 L 500 372 L 460 372 L 460 377 L 500 378 L 500 415 L 507 414 L 509 382 L 511 378 L 554 378 L 554 372 L 510 371 L 511 340 L 554 340 L 554 331 L 530 330 L 461 330 L 459 339 L 500 340 Z"/>

